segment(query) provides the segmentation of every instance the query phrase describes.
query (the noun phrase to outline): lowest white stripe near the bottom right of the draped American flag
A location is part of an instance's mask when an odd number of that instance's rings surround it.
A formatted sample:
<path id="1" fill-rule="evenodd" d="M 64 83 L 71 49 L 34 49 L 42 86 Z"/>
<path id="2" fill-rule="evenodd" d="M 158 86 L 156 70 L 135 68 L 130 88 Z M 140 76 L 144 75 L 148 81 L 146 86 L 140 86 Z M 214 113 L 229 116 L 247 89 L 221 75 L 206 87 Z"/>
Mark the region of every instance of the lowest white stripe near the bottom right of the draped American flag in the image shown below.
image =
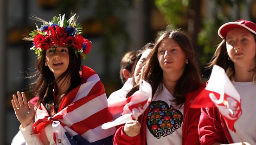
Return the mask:
<path id="1" fill-rule="evenodd" d="M 99 126 L 97 128 L 86 131 L 86 133 L 82 134 L 82 137 L 84 137 L 89 142 L 95 142 L 113 135 L 115 131 L 116 127 L 104 130 L 101 129 L 101 126 Z"/>

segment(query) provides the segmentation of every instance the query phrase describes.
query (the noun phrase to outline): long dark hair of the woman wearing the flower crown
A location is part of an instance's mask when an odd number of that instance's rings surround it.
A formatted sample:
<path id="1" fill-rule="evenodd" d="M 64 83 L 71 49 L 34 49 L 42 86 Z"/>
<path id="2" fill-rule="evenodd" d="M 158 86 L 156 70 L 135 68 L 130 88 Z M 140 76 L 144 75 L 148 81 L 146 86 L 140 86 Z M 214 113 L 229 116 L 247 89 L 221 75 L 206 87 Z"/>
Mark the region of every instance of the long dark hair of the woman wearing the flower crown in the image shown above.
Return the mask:
<path id="1" fill-rule="evenodd" d="M 67 90 L 72 90 L 73 88 L 77 87 L 80 84 L 80 68 L 81 68 L 81 57 L 79 55 L 76 55 L 73 51 L 73 49 L 69 49 L 69 64 L 67 70 L 61 74 L 56 80 L 54 78 L 54 75 L 52 71 L 48 68 L 48 66 L 44 65 L 46 61 L 46 50 L 42 52 L 42 55 L 40 58 L 37 58 L 36 60 L 36 69 L 34 77 L 36 77 L 36 81 L 31 84 L 31 87 L 33 88 L 33 93 L 35 96 L 39 96 L 39 101 L 37 102 L 37 105 L 40 103 L 43 103 L 46 107 L 48 113 L 50 113 L 50 110 L 52 110 L 53 106 L 56 108 L 56 105 L 54 103 L 54 95 L 57 93 L 57 83 L 61 80 L 66 80 L 68 76 L 71 78 L 71 87 Z M 53 94 L 53 89 L 55 91 L 55 94 Z M 65 94 L 66 94 L 65 93 Z M 61 98 L 62 99 L 62 98 Z"/>

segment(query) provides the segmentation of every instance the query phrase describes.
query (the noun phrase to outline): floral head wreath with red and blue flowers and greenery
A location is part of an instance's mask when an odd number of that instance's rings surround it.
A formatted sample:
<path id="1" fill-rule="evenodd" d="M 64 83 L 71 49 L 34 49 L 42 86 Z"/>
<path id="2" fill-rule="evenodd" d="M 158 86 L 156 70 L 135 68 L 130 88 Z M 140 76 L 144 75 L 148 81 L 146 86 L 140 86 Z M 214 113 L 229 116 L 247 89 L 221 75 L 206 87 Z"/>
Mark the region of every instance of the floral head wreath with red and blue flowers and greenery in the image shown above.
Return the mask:
<path id="1" fill-rule="evenodd" d="M 91 50 L 91 42 L 80 35 L 82 27 L 81 24 L 76 24 L 75 15 L 68 20 L 65 18 L 65 14 L 59 15 L 59 17 L 54 16 L 51 22 L 31 16 L 31 19 L 43 22 L 43 24 L 40 28 L 36 25 L 36 30 L 29 34 L 31 37 L 24 37 L 23 39 L 34 42 L 30 49 L 35 50 L 38 58 L 43 50 L 50 47 L 68 47 L 73 49 L 75 54 L 86 59 Z"/>

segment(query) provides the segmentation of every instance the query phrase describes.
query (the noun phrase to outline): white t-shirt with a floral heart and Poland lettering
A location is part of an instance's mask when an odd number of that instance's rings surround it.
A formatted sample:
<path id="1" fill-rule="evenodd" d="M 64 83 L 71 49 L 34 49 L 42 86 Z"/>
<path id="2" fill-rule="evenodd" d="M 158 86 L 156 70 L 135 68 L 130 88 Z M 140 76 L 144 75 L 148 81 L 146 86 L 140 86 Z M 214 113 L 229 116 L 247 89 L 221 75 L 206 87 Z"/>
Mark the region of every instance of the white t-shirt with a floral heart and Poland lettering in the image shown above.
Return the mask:
<path id="1" fill-rule="evenodd" d="M 182 122 L 184 106 L 174 105 L 174 97 L 163 87 L 154 96 L 146 120 L 146 142 L 151 144 L 182 144 Z"/>

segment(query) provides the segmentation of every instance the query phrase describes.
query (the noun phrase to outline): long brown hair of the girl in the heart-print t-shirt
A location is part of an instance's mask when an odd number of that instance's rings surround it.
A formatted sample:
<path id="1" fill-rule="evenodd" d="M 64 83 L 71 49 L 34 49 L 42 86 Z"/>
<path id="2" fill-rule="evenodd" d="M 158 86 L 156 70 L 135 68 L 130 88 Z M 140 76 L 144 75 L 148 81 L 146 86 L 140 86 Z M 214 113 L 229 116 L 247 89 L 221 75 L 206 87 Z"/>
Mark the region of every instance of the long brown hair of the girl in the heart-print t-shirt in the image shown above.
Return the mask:
<path id="1" fill-rule="evenodd" d="M 174 88 L 175 100 L 172 100 L 176 106 L 182 106 L 185 102 L 185 96 L 200 87 L 201 74 L 197 65 L 195 51 L 188 39 L 188 37 L 183 34 L 180 30 L 166 30 L 157 39 L 155 46 L 150 52 L 148 59 L 146 61 L 145 67 L 142 73 L 142 79 L 149 82 L 152 86 L 152 96 L 156 93 L 160 93 L 163 90 L 163 70 L 161 69 L 158 59 L 157 51 L 161 42 L 165 38 L 172 38 L 180 47 L 182 48 L 185 56 L 188 58 L 188 64 L 185 65 L 183 75 L 178 79 Z M 159 87 L 159 91 L 157 91 Z M 129 95 L 133 94 L 138 90 L 138 85 L 136 85 Z"/>

